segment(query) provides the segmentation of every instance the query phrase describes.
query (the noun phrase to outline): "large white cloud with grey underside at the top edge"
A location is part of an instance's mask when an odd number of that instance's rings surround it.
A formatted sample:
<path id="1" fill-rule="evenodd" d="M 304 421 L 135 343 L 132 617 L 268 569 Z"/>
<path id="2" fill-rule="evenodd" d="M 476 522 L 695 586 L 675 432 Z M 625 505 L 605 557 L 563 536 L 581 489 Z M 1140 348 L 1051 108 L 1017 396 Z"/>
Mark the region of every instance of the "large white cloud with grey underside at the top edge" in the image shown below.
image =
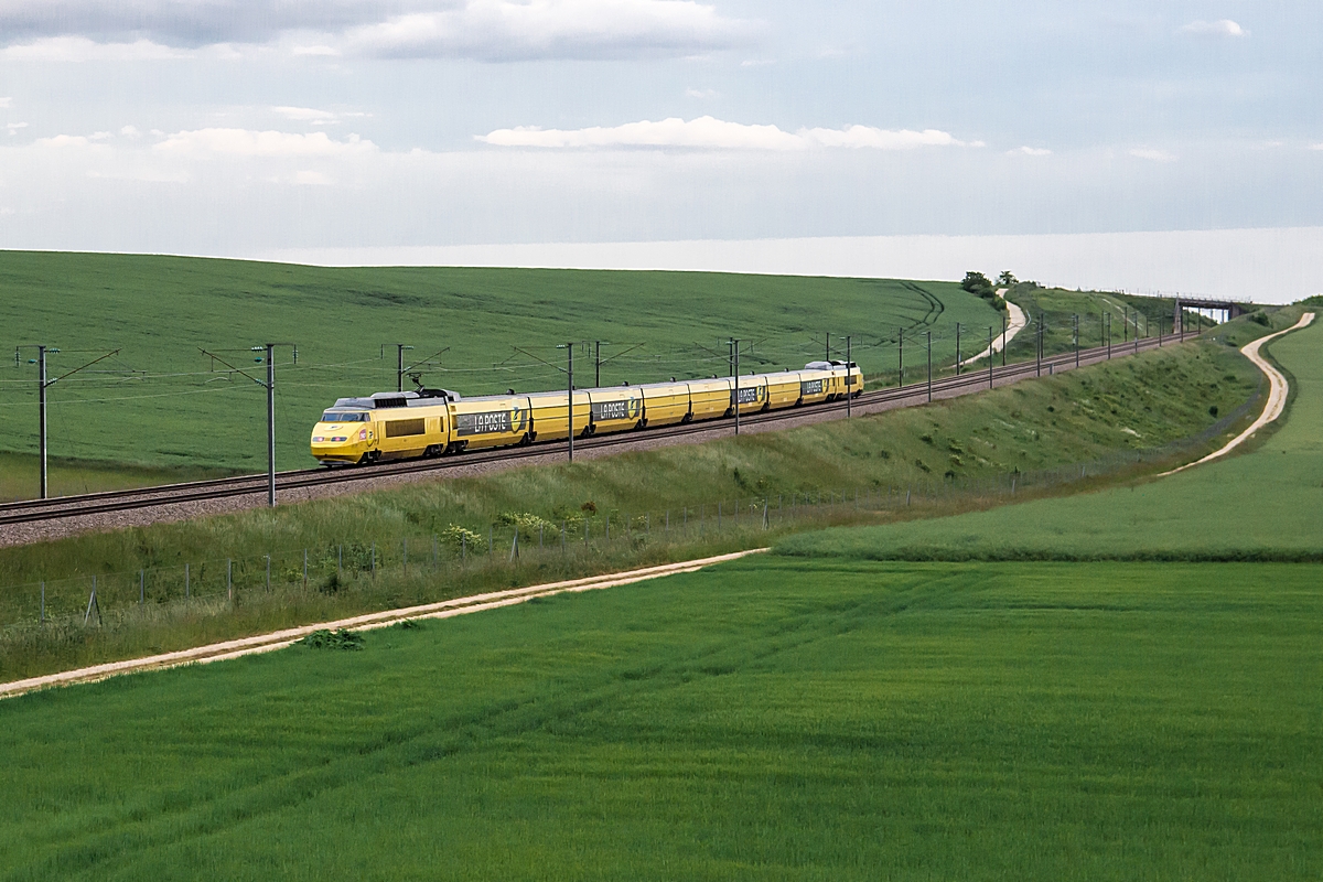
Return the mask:
<path id="1" fill-rule="evenodd" d="M 693 0 L 467 0 L 351 28 L 347 54 L 390 58 L 614 58 L 693 54 L 744 41 L 753 25 Z"/>

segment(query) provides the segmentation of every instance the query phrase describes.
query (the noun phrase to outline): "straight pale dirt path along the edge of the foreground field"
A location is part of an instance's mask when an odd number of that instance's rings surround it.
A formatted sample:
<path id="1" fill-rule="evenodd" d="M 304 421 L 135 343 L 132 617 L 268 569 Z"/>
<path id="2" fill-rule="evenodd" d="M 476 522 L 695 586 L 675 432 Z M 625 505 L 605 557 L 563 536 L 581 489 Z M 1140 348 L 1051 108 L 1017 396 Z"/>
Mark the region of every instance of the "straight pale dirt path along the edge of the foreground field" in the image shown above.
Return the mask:
<path id="1" fill-rule="evenodd" d="M 93 665 L 90 668 L 79 668 L 77 670 L 65 670 L 54 674 L 45 674 L 42 677 L 16 680 L 13 682 L 0 684 L 0 700 L 12 698 L 13 696 L 21 696 L 37 689 L 73 686 L 74 684 L 97 682 L 98 680 L 140 673 L 144 670 L 164 670 L 165 668 L 177 668 L 180 665 L 225 661 L 226 659 L 239 659 L 242 656 L 251 656 L 259 652 L 271 652 L 274 649 L 283 649 L 308 636 L 314 631 L 339 631 L 341 628 L 348 631 L 373 631 L 376 628 L 389 628 L 390 625 L 400 624 L 406 619 L 450 619 L 451 616 L 482 612 L 483 610 L 497 610 L 500 607 L 524 603 L 527 600 L 532 600 L 533 598 L 546 598 L 565 591 L 597 591 L 599 588 L 613 588 L 620 584 L 634 584 L 635 582 L 660 579 L 665 575 L 695 573 L 705 566 L 736 561 L 749 554 L 761 554 L 766 550 L 767 549 L 753 549 L 749 551 L 736 551 L 733 554 L 721 554 L 697 561 L 664 563 L 662 566 L 646 567 L 643 570 L 609 573 L 606 575 L 595 575 L 586 579 L 549 582 L 546 584 L 534 584 L 527 588 L 476 594 L 470 598 L 456 598 L 454 600 L 441 600 L 438 603 L 427 603 L 418 607 L 386 610 L 385 612 L 369 612 L 366 615 L 339 619 L 336 621 L 323 621 L 320 624 L 286 628 L 284 631 L 263 633 L 255 637 L 242 637 L 238 640 L 213 643 L 208 647 L 167 652 L 157 656 L 146 656 L 143 659 L 130 659 L 127 661 L 111 661 L 102 665 Z"/>

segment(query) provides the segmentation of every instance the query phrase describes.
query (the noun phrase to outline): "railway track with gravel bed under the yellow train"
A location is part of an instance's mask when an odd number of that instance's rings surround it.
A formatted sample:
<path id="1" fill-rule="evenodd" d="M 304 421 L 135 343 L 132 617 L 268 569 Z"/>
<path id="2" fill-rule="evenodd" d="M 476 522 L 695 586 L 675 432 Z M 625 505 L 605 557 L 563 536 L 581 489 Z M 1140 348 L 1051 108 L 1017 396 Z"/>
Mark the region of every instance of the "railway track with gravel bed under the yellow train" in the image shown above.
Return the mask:
<path id="1" fill-rule="evenodd" d="M 1162 344 L 1175 342 L 1167 337 Z M 1136 352 L 1147 352 L 1159 346 L 1155 337 L 1130 341 L 1121 346 L 1094 346 L 1081 349 L 1078 354 L 1080 366 L 1091 365 L 1107 358 L 1119 358 Z M 1004 368 L 994 366 L 991 383 L 988 370 L 974 370 L 958 377 L 943 377 L 931 382 L 931 395 L 937 398 L 951 398 L 955 395 L 971 394 L 990 385 L 1004 385 L 1033 377 L 1039 373 L 1048 374 L 1057 370 L 1069 370 L 1076 366 L 1076 353 L 1057 354 L 1050 358 L 1037 361 L 1021 361 Z M 849 409 L 860 414 L 888 410 L 893 406 L 913 406 L 926 403 L 929 383 L 922 381 L 908 386 L 893 389 L 877 389 L 855 398 Z M 847 411 L 845 402 L 832 402 L 830 405 L 814 405 L 810 409 L 790 409 L 769 411 L 763 414 L 747 414 L 740 418 L 741 427 L 766 426 L 800 419 L 807 414 L 835 414 Z M 622 432 L 618 435 L 603 435 L 602 438 L 586 438 L 576 440 L 579 451 L 595 451 L 606 448 L 627 448 L 644 439 L 680 438 L 685 435 L 712 434 L 713 430 L 733 426 L 734 421 L 708 419 L 701 423 L 687 423 L 680 426 L 667 426 L 650 428 L 643 432 Z M 288 472 L 277 472 L 277 495 L 282 491 L 292 491 L 308 487 L 324 487 L 329 484 L 352 484 L 355 481 L 392 477 L 426 475 L 431 472 L 446 472 L 448 469 L 472 465 L 487 461 L 517 461 L 523 459 L 544 458 L 564 450 L 562 443 L 534 444 L 532 447 L 507 447 L 472 454 L 445 456 L 441 459 L 407 460 L 400 463 L 384 463 L 369 467 L 349 468 L 307 468 Z M 181 502 L 200 502 L 206 500 L 226 499 L 235 496 L 265 495 L 266 475 L 250 475 L 238 477 L 221 477 L 205 481 L 189 481 L 183 484 L 164 484 L 131 491 L 111 491 L 103 493 L 85 493 L 78 496 L 61 496 L 46 500 L 25 500 L 20 502 L 0 504 L 0 525 L 30 524 L 37 521 L 57 521 L 70 517 L 85 517 L 90 514 L 105 514 L 130 509 L 144 509 L 153 506 L 179 505 Z"/>

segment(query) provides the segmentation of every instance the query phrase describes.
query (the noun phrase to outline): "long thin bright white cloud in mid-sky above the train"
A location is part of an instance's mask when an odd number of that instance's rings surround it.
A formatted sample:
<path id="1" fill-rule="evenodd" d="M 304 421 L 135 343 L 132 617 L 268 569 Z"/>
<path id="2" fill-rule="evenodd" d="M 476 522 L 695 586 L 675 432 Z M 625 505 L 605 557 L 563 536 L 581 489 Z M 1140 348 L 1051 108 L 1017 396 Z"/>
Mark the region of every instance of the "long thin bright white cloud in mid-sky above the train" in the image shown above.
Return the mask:
<path id="1" fill-rule="evenodd" d="M 728 123 L 712 116 L 685 122 L 680 118 L 660 122 L 643 120 L 624 126 L 577 130 L 558 128 L 499 128 L 476 140 L 495 147 L 687 147 L 705 149 L 771 149 L 795 151 L 814 147 L 848 147 L 873 149 L 912 149 L 916 147 L 982 147 L 982 141 L 966 143 L 934 128 L 922 132 L 888 131 L 869 126 L 847 128 L 800 128 L 782 131 L 777 126 L 749 126 Z"/>

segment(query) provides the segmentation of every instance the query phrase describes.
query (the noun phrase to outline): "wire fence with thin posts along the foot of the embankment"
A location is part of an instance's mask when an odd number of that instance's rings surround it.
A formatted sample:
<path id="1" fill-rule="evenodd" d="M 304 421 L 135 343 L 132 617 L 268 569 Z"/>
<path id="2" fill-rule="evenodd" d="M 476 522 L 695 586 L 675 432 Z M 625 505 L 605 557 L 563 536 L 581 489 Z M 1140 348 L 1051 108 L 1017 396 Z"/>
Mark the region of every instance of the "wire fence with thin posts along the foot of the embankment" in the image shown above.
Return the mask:
<path id="1" fill-rule="evenodd" d="M 916 506 L 974 508 L 1177 460 L 1225 432 L 1257 399 L 1252 397 L 1197 435 L 1162 447 L 1045 469 L 976 479 L 931 475 L 905 484 L 753 493 L 673 508 L 611 508 L 561 520 L 525 513 L 480 529 L 450 525 L 430 534 L 356 537 L 245 557 L 11 584 L 0 588 L 0 621 L 9 632 L 93 628 L 147 608 L 196 606 L 224 614 L 261 598 L 310 591 L 372 594 L 388 582 L 409 579 L 422 579 L 445 592 L 447 584 L 480 583 L 527 566 L 572 577 L 607 559 L 627 565 L 647 551 L 664 554 L 710 543 L 747 546 L 769 541 L 773 534 L 873 521 L 880 514 L 898 517 Z"/>

